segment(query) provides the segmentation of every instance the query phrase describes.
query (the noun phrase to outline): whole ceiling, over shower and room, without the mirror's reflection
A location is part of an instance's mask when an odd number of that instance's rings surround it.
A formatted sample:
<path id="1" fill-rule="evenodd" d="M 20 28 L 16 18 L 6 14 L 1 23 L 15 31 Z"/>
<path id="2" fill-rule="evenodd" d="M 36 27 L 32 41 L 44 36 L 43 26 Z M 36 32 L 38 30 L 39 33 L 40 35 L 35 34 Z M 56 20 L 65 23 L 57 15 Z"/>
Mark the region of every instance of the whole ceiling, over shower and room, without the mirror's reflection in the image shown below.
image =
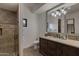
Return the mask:
<path id="1" fill-rule="evenodd" d="M 25 6 L 29 8 L 31 12 L 43 12 L 51 9 L 52 7 L 58 5 L 56 3 L 24 3 Z M 0 3 L 0 8 L 9 11 L 16 12 L 18 9 L 18 3 Z"/>

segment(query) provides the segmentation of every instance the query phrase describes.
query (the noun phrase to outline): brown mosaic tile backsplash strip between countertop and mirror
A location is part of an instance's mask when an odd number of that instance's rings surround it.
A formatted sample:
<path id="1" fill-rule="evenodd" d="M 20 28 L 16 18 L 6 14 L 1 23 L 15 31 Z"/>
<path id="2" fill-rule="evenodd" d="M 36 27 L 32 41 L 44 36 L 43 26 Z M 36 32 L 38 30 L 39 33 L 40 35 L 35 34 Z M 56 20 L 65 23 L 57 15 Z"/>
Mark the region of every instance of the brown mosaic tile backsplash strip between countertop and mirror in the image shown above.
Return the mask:
<path id="1" fill-rule="evenodd" d="M 52 36 L 56 38 L 61 39 L 69 39 L 69 40 L 78 40 L 79 41 L 79 35 L 72 35 L 72 34 L 63 34 L 63 33 L 54 33 L 54 32 L 48 32 L 45 34 L 45 36 Z"/>

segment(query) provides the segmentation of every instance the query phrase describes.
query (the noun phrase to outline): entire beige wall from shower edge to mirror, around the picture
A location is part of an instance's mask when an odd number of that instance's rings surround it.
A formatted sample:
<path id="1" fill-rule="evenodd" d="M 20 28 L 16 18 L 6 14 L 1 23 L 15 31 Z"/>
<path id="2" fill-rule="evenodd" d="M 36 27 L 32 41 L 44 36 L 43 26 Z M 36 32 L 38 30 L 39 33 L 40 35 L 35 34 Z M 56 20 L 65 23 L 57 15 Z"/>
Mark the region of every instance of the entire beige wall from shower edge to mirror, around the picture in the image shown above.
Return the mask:
<path id="1" fill-rule="evenodd" d="M 40 35 L 44 35 L 46 32 L 46 17 L 45 13 L 34 14 L 32 13 L 26 5 L 20 4 L 19 10 L 19 42 L 20 53 L 22 53 L 24 48 L 33 46 L 33 43 Z M 27 27 L 23 27 L 22 19 L 27 19 Z"/>

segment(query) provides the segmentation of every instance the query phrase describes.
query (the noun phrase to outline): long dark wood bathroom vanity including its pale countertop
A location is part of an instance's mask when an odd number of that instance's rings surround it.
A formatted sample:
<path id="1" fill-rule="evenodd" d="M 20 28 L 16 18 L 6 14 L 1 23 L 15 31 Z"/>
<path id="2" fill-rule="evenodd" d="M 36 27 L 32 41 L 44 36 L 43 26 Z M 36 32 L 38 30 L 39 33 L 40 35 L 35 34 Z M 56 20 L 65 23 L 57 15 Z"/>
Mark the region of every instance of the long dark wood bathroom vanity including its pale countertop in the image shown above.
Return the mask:
<path id="1" fill-rule="evenodd" d="M 39 52 L 45 56 L 79 56 L 79 41 L 40 37 Z"/>

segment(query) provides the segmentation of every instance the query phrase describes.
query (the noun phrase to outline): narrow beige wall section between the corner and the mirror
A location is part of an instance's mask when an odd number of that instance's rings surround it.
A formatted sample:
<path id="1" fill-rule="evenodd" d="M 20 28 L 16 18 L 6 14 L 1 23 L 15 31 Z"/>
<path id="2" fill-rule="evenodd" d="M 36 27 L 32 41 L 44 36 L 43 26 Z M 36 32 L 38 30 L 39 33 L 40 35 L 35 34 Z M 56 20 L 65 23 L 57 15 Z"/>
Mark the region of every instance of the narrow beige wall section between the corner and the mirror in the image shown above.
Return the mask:
<path id="1" fill-rule="evenodd" d="M 38 37 L 42 36 L 46 32 L 46 13 L 37 14 L 37 25 L 38 25 Z"/>

